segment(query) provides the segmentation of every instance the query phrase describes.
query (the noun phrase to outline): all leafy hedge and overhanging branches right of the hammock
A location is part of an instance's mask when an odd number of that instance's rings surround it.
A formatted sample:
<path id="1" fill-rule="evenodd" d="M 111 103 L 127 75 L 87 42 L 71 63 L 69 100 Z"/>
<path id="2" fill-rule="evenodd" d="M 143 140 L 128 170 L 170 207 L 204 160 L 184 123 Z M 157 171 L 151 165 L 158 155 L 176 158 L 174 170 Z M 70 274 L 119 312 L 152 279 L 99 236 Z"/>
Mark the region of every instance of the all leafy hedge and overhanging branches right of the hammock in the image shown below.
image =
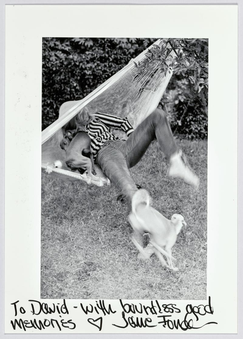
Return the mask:
<path id="1" fill-rule="evenodd" d="M 189 139 L 207 137 L 208 104 L 208 41 L 207 39 L 163 39 L 147 58 L 136 64 L 142 74 L 149 69 L 149 60 L 157 60 L 164 73 L 173 77 L 161 104 L 167 112 L 172 130 Z M 174 50 L 175 56 L 168 56 Z"/>

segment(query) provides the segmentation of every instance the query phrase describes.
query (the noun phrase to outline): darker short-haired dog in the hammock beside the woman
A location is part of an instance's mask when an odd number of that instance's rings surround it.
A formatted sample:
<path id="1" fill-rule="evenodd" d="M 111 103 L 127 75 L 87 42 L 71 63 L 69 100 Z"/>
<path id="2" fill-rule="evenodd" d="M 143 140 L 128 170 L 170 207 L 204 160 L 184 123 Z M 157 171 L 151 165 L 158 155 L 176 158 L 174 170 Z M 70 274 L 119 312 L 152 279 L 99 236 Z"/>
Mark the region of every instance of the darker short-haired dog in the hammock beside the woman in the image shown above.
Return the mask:
<path id="1" fill-rule="evenodd" d="M 70 131 L 66 132 L 60 146 L 66 151 L 65 162 L 71 171 L 78 170 L 83 174 L 87 169 L 89 176 L 96 175 L 90 143 L 90 137 L 84 131 L 77 132 L 74 137 Z"/>

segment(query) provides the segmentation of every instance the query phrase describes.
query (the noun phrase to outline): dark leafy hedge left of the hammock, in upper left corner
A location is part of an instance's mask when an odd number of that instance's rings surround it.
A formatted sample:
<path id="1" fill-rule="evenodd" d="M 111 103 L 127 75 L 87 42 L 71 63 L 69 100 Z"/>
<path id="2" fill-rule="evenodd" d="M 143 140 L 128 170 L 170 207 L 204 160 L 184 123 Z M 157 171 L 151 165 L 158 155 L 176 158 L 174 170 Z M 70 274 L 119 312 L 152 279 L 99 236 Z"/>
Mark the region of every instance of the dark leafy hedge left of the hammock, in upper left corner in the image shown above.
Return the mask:
<path id="1" fill-rule="evenodd" d="M 156 39 L 43 38 L 42 128 L 65 101 L 80 100 Z"/>

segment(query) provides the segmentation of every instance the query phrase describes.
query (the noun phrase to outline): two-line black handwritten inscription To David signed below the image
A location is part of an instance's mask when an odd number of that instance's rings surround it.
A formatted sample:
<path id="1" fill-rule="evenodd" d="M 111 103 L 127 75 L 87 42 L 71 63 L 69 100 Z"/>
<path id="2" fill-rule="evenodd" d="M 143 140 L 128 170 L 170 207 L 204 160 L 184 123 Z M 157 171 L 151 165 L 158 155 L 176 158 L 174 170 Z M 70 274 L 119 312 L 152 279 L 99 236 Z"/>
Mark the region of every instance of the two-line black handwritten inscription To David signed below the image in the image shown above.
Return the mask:
<path id="1" fill-rule="evenodd" d="M 72 306 L 72 312 L 70 312 L 70 307 L 68 307 L 65 299 L 62 303 L 44 303 L 33 299 L 29 299 L 28 302 L 28 309 L 26 306 L 24 308 L 20 305 L 19 300 L 11 303 L 15 319 L 11 320 L 10 323 L 14 330 L 26 331 L 28 328 L 34 328 L 41 331 L 48 327 L 58 331 L 62 331 L 64 328 L 74 330 L 76 323 L 72 319 L 67 319 L 67 317 L 71 318 L 70 314 L 74 316 L 73 312 L 75 314 L 79 312 L 82 319 L 88 316 L 84 321 L 92 325 L 94 330 L 96 329 L 95 331 L 102 331 L 103 317 L 107 318 L 106 325 L 110 323 L 112 326 L 121 329 L 159 326 L 161 329 L 187 331 L 199 329 L 209 324 L 217 324 L 215 321 L 203 322 L 204 316 L 214 313 L 211 297 L 208 297 L 208 303 L 205 305 L 187 304 L 183 309 L 175 303 L 164 304 L 158 300 L 146 301 L 146 304 L 143 304 L 140 302 L 128 303 L 119 299 L 119 308 L 117 307 L 116 310 L 104 300 L 95 300 L 92 303 L 82 302 L 77 306 Z M 115 313 L 117 314 L 114 318 Z M 46 319 L 48 316 L 51 316 L 51 318 Z M 109 317 L 111 317 L 110 321 Z"/>

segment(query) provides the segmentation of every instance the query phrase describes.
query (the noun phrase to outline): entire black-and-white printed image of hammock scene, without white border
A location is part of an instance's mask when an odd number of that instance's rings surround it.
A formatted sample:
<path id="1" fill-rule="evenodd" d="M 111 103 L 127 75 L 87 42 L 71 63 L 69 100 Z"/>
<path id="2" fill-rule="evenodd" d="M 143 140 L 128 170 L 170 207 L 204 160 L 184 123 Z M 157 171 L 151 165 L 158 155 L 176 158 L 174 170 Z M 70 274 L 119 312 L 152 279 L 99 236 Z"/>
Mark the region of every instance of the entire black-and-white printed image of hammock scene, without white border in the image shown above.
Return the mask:
<path id="1" fill-rule="evenodd" d="M 42 299 L 207 299 L 207 38 L 42 37 Z"/>

